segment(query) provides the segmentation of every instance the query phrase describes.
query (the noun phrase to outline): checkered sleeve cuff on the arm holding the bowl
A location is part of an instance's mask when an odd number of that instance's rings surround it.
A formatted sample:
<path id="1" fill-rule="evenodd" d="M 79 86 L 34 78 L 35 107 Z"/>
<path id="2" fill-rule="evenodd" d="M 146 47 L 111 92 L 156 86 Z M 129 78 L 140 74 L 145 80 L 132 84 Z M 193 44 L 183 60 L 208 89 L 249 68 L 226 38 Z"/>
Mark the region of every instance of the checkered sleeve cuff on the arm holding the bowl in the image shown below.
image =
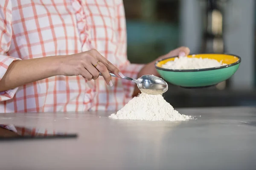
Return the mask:
<path id="1" fill-rule="evenodd" d="M 138 73 L 140 70 L 144 67 L 143 64 L 130 64 L 128 63 L 127 65 L 123 65 L 120 69 L 121 73 L 124 74 L 126 77 L 131 77 L 133 79 L 138 78 Z M 125 95 L 128 98 L 132 97 L 132 94 L 134 92 L 134 82 L 122 79 L 122 85 L 125 90 Z"/>

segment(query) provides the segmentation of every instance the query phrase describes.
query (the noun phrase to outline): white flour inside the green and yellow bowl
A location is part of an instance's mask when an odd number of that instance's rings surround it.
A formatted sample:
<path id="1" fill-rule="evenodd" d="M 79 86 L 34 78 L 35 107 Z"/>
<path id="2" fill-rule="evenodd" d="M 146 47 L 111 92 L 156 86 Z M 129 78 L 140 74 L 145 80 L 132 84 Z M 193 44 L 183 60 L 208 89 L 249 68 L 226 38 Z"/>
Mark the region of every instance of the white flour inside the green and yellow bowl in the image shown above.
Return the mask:
<path id="1" fill-rule="evenodd" d="M 177 57 L 174 61 L 166 62 L 162 65 L 162 68 L 175 69 L 175 70 L 190 70 L 190 69 L 202 69 L 220 67 L 226 64 L 218 62 L 216 59 L 208 58 L 189 58 L 189 57 Z"/>

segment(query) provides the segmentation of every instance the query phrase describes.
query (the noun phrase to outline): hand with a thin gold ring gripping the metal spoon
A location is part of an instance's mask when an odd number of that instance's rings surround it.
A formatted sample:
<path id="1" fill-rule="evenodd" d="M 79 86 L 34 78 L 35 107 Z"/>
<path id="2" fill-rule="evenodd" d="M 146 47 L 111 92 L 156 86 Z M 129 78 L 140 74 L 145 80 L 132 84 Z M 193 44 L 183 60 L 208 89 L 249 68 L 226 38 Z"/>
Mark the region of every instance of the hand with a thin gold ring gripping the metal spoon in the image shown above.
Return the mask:
<path id="1" fill-rule="evenodd" d="M 78 54 L 61 56 L 61 64 L 59 65 L 58 72 L 60 75 L 64 76 L 81 75 L 88 81 L 97 79 L 100 72 L 105 82 L 110 86 L 112 86 L 113 83 L 109 72 L 115 74 L 117 77 L 122 76 L 119 69 L 95 49 Z"/>

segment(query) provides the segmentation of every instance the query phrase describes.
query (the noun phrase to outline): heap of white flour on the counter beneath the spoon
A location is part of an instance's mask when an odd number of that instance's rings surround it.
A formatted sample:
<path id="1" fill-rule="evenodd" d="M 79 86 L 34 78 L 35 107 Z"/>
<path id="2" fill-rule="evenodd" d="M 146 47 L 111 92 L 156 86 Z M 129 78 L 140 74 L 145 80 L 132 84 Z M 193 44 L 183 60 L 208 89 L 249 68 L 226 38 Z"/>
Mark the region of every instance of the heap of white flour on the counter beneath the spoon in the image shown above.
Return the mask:
<path id="1" fill-rule="evenodd" d="M 181 115 L 175 111 L 162 95 L 142 93 L 131 99 L 116 114 L 109 116 L 111 119 L 151 120 L 151 121 L 184 121 L 191 116 Z"/>

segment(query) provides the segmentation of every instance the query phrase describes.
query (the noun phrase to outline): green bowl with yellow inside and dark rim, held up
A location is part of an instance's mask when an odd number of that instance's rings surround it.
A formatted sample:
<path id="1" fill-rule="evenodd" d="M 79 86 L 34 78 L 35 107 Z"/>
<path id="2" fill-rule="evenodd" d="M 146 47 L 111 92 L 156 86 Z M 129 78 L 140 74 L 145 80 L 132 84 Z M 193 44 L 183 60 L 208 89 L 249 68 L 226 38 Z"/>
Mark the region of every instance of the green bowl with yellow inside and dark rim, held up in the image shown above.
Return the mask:
<path id="1" fill-rule="evenodd" d="M 236 73 L 241 63 L 241 58 L 232 54 L 193 54 L 188 57 L 216 59 L 227 65 L 215 68 L 173 70 L 162 68 L 166 62 L 173 61 L 176 57 L 162 59 L 155 63 L 157 72 L 161 77 L 174 85 L 184 88 L 201 88 L 217 85 L 229 79 Z"/>

